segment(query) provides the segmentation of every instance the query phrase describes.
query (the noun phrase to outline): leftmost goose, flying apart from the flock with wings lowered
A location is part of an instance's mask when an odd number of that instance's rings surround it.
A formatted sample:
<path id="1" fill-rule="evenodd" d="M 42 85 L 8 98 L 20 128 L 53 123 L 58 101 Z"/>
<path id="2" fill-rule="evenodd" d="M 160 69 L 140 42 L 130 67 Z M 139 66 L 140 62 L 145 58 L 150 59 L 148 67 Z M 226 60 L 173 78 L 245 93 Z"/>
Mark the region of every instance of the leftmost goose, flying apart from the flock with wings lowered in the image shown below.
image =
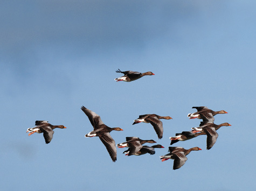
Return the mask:
<path id="1" fill-rule="evenodd" d="M 55 128 L 60 128 L 60 129 L 66 128 L 64 126 L 53 126 L 52 124 L 48 123 L 48 121 L 36 121 L 35 123 L 36 123 L 36 127 L 28 128 L 26 133 L 30 132 L 29 136 L 34 134 L 34 133 L 43 133 L 46 144 L 48 144 L 52 141 L 52 137 L 53 137 L 53 134 L 54 134 L 53 129 L 55 129 Z"/>

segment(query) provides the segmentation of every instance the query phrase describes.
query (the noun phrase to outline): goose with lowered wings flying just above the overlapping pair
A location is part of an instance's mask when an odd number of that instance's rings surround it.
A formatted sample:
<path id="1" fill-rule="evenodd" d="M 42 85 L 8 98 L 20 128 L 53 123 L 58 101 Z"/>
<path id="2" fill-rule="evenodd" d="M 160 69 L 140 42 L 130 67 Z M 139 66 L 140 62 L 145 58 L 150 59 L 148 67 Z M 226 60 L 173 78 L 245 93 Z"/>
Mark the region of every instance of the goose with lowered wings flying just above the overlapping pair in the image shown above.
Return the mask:
<path id="1" fill-rule="evenodd" d="M 133 124 L 137 124 L 140 122 L 144 123 L 150 123 L 158 136 L 159 139 L 163 137 L 163 123 L 160 121 L 160 119 L 172 119 L 170 116 L 159 116 L 156 114 L 146 114 L 146 115 L 140 115 L 138 119 L 134 120 Z"/>

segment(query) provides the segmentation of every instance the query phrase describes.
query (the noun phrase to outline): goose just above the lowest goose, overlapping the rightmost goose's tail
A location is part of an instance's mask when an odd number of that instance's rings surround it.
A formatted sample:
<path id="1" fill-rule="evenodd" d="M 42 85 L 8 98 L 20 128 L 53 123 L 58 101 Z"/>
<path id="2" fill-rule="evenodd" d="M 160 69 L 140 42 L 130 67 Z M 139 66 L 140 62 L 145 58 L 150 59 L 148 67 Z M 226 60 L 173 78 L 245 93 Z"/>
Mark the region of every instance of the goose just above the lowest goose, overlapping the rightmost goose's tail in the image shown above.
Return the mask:
<path id="1" fill-rule="evenodd" d="M 206 135 L 205 132 L 198 133 L 199 130 L 192 130 L 192 131 L 182 131 L 182 133 L 176 133 L 175 137 L 170 137 L 171 145 L 177 143 L 178 141 L 186 141 L 191 138 L 195 138 L 199 135 Z"/>

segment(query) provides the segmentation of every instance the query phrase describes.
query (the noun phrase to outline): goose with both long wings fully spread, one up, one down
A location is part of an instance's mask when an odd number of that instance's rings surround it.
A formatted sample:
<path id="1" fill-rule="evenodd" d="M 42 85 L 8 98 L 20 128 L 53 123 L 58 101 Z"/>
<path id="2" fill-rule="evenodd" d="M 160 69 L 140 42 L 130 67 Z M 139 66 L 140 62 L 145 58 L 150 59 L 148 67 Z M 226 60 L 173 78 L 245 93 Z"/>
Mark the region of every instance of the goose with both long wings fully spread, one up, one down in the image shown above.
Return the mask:
<path id="1" fill-rule="evenodd" d="M 121 131 L 122 129 L 119 127 L 108 127 L 106 124 L 102 122 L 100 116 L 93 111 L 85 108 L 84 106 L 81 107 L 82 111 L 85 112 L 89 121 L 93 126 L 93 131 L 86 134 L 85 137 L 94 137 L 98 136 L 101 142 L 106 146 L 107 151 L 112 158 L 113 162 L 116 161 L 116 146 L 114 139 L 110 136 L 110 132 L 112 130 Z"/>

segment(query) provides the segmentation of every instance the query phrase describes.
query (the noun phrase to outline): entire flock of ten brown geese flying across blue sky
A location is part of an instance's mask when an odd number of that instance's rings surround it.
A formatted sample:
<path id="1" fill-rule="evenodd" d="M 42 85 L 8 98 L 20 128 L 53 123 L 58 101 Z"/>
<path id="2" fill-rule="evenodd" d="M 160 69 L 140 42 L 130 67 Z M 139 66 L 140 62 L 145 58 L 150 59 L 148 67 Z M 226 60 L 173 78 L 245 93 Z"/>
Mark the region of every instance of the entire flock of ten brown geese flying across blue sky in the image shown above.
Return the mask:
<path id="1" fill-rule="evenodd" d="M 124 74 L 119 78 L 115 78 L 116 82 L 124 81 L 124 82 L 132 82 L 136 79 L 139 79 L 146 75 L 154 75 L 153 72 L 134 72 L 134 71 L 121 71 L 120 69 L 116 70 L 116 72 L 121 72 Z M 222 123 L 222 124 L 215 124 L 215 118 L 213 116 L 217 114 L 225 114 L 225 111 L 212 111 L 211 109 L 201 106 L 201 107 L 192 107 L 196 108 L 197 112 L 188 114 L 190 119 L 202 119 L 203 121 L 200 122 L 199 127 L 193 127 L 191 131 L 182 131 L 182 133 L 177 133 L 174 137 L 170 137 L 171 145 L 177 143 L 178 141 L 186 141 L 192 138 L 195 138 L 199 135 L 206 135 L 206 149 L 209 150 L 212 146 L 216 143 L 218 134 L 217 130 L 222 126 L 231 126 L 229 123 Z M 89 121 L 93 126 L 93 131 L 89 132 L 85 135 L 85 137 L 99 137 L 101 142 L 106 146 L 106 149 L 112 158 L 113 162 L 116 161 L 116 146 L 117 148 L 128 148 L 125 153 L 127 156 L 131 155 L 144 155 L 149 153 L 150 155 L 155 154 L 155 148 L 164 148 L 160 144 L 156 144 L 153 146 L 143 145 L 144 143 L 156 143 L 153 139 L 150 140 L 142 140 L 139 137 L 126 137 L 126 142 L 116 144 L 114 139 L 110 136 L 110 132 L 112 130 L 122 131 L 120 127 L 108 127 L 106 124 L 103 123 L 100 116 L 95 112 L 87 109 L 86 107 L 82 106 L 81 110 L 86 114 Z M 133 124 L 137 123 L 150 123 L 154 130 L 156 131 L 158 139 L 163 137 L 163 123 L 161 119 L 170 120 L 172 119 L 170 116 L 159 116 L 156 114 L 146 114 L 140 115 L 138 119 L 134 120 Z M 28 128 L 26 132 L 30 132 L 29 136 L 34 133 L 43 133 L 45 143 L 48 144 L 51 142 L 53 138 L 55 128 L 64 129 L 66 127 L 60 126 L 53 126 L 52 124 L 48 123 L 48 121 L 36 121 L 36 127 Z M 186 155 L 188 155 L 191 151 L 198 151 L 202 150 L 198 147 L 190 148 L 188 150 L 179 147 L 179 146 L 169 146 L 169 153 L 167 155 L 163 155 L 160 157 L 162 161 L 173 159 L 174 165 L 173 169 L 176 170 L 182 167 L 185 164 L 185 161 L 188 160 Z"/>

